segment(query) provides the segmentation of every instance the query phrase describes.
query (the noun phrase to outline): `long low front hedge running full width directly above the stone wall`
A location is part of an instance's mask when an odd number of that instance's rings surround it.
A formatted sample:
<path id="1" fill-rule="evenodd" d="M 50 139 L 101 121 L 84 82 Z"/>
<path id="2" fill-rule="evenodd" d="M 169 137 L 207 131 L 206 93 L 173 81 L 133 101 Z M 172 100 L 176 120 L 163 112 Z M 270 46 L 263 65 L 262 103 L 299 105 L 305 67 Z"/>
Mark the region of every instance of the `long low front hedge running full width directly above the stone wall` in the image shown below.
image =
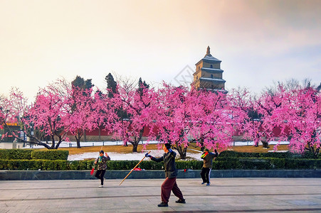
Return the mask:
<path id="1" fill-rule="evenodd" d="M 94 160 L 1 160 L 0 170 L 90 170 Z M 108 170 L 131 170 L 138 160 L 110 160 Z M 177 169 L 200 170 L 201 160 L 178 160 Z M 162 170 L 163 163 L 143 160 L 139 168 L 145 170 Z M 273 169 L 321 169 L 320 159 L 301 158 L 225 158 L 213 162 L 215 170 L 273 170 Z"/>

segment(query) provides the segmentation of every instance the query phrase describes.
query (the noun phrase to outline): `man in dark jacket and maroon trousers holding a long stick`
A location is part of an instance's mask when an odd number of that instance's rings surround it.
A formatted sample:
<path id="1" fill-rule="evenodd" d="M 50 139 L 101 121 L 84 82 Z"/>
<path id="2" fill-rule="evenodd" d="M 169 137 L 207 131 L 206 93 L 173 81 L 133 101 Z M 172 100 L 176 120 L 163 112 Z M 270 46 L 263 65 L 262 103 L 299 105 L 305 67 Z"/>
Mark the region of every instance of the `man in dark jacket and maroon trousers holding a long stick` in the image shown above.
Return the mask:
<path id="1" fill-rule="evenodd" d="M 177 182 L 176 182 L 176 178 L 177 178 L 177 169 L 175 165 L 176 153 L 172 151 L 170 143 L 165 143 L 163 146 L 163 150 L 165 153 L 161 158 L 154 158 L 148 153 L 145 155 L 146 157 L 149 157 L 151 160 L 154 160 L 156 162 L 164 161 L 166 179 L 162 184 L 162 193 L 161 193 L 162 202 L 158 204 L 158 207 L 168 207 L 171 190 L 174 193 L 174 195 L 179 198 L 179 200 L 176 201 L 177 203 L 186 203 L 183 197 L 183 194 L 181 193 L 181 190 L 179 190 L 179 187 L 177 186 Z"/>

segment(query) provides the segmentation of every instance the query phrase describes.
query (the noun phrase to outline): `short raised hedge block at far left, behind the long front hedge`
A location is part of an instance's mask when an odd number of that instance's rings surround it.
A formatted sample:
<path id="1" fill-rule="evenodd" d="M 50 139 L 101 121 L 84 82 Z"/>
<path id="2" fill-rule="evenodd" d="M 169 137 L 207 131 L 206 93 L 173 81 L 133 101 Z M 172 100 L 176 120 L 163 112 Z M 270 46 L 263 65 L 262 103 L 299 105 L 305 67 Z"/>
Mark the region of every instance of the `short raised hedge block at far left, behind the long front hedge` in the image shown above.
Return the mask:
<path id="1" fill-rule="evenodd" d="M 5 160 L 67 160 L 69 151 L 64 150 L 30 150 L 30 149 L 0 149 L 0 159 Z"/>

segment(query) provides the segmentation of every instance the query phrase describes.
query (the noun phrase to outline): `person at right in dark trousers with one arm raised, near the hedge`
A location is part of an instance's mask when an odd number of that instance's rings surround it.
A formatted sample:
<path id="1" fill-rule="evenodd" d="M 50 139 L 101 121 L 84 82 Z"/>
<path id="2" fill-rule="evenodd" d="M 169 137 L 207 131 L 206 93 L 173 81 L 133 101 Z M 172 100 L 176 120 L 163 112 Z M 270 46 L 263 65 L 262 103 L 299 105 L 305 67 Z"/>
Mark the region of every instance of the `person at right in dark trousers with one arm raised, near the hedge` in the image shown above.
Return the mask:
<path id="1" fill-rule="evenodd" d="M 209 152 L 209 149 L 206 148 L 204 153 L 201 155 L 201 158 L 203 159 L 203 168 L 201 168 L 201 179 L 203 179 L 203 182 L 201 184 L 206 183 L 206 185 L 211 185 L 211 182 L 209 182 L 209 177 L 211 176 L 213 159 L 219 155 L 216 149 L 214 152 L 215 153 L 211 153 Z"/>

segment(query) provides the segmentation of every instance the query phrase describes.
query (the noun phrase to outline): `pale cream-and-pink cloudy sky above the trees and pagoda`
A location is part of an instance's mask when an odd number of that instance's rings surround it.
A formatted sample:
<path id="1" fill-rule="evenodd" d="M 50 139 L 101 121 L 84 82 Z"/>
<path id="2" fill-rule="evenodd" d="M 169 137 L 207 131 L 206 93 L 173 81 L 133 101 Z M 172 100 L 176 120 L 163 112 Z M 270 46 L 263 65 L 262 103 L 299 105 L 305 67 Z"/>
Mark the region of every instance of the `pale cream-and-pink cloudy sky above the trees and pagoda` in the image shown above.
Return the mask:
<path id="1" fill-rule="evenodd" d="M 196 62 L 221 60 L 226 89 L 321 82 L 321 1 L 0 0 L 0 94 L 28 99 L 77 75 L 189 85 Z"/>

